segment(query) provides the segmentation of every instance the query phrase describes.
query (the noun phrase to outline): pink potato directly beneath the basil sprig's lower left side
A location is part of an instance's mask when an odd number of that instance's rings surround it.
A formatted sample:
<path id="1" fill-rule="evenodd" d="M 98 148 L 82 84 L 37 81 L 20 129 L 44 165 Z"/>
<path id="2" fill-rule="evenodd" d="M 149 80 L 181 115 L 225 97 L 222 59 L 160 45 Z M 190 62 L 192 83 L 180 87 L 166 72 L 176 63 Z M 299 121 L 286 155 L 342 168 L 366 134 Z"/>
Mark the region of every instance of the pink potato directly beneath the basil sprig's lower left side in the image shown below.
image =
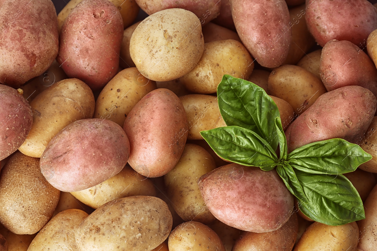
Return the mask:
<path id="1" fill-rule="evenodd" d="M 293 213 L 293 195 L 275 170 L 232 163 L 201 176 L 198 186 L 217 219 L 244 231 L 277 230 Z"/>

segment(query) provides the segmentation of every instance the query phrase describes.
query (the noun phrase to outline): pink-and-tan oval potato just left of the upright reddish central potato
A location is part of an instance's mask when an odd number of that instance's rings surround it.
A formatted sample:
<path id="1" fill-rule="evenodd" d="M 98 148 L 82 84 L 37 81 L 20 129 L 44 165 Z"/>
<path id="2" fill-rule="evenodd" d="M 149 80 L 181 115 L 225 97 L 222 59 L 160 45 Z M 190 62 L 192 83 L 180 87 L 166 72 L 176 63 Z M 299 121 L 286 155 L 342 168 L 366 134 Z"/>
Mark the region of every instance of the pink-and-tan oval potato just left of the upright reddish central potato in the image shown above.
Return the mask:
<path id="1" fill-rule="evenodd" d="M 129 153 L 129 140 L 117 123 L 76 120 L 52 138 L 40 158 L 40 168 L 53 187 L 76 192 L 115 176 Z"/>

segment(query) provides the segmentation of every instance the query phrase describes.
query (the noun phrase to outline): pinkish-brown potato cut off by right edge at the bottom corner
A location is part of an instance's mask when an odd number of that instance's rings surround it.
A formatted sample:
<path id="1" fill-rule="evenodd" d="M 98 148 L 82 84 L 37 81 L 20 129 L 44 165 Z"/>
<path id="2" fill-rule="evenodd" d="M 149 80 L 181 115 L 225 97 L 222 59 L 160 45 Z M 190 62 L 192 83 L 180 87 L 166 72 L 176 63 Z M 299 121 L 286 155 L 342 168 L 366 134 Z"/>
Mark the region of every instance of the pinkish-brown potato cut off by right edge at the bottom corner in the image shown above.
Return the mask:
<path id="1" fill-rule="evenodd" d="M 358 248 L 362 251 L 377 249 L 377 186 L 375 186 L 364 202 L 365 219 L 358 221 L 360 236 Z"/>

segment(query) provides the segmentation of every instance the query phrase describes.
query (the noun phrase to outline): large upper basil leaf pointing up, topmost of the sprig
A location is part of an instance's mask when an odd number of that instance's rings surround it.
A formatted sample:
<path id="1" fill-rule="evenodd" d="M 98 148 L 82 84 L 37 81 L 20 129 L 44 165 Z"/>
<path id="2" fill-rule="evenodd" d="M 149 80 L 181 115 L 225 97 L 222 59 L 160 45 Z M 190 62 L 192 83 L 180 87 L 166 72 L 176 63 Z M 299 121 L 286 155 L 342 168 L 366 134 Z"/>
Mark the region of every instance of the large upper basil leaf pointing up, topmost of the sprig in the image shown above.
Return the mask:
<path id="1" fill-rule="evenodd" d="M 228 126 L 240 126 L 256 132 L 276 151 L 279 138 L 275 118 L 280 117 L 280 113 L 261 87 L 224 75 L 217 94 L 221 116 Z"/>

